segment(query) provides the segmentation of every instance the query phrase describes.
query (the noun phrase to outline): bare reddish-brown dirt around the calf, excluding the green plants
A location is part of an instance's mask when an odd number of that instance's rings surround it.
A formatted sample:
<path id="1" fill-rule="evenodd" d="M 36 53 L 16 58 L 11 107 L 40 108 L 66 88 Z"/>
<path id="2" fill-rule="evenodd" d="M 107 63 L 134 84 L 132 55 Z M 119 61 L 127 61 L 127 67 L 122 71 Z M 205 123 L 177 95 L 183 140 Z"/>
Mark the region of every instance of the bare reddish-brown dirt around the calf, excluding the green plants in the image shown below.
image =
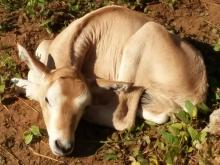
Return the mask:
<path id="1" fill-rule="evenodd" d="M 59 7 L 61 4 L 54 5 Z M 220 77 L 220 54 L 212 49 L 212 45 L 220 38 L 219 0 L 185 0 L 175 9 L 164 3 L 149 3 L 146 15 L 187 38 L 202 51 L 209 80 Z M 0 20 L 4 19 L 6 13 L 0 8 Z M 48 34 L 37 20 L 29 20 L 19 11 L 11 12 L 10 16 L 7 14 L 7 19 L 15 27 L 0 35 L 0 52 L 8 50 L 21 70 L 27 72 L 18 60 L 16 43 L 22 43 L 33 52 L 42 39 L 53 38 L 55 35 Z M 82 121 L 77 130 L 74 155 L 62 158 L 52 155 L 47 137 L 29 146 L 24 143 L 23 132 L 33 124 L 45 128 L 37 102 L 15 96 L 6 99 L 4 105 L 0 104 L 0 165 L 124 164 L 123 161 L 100 160 L 96 156 L 102 145 L 99 141 L 105 140 L 114 130 Z"/>

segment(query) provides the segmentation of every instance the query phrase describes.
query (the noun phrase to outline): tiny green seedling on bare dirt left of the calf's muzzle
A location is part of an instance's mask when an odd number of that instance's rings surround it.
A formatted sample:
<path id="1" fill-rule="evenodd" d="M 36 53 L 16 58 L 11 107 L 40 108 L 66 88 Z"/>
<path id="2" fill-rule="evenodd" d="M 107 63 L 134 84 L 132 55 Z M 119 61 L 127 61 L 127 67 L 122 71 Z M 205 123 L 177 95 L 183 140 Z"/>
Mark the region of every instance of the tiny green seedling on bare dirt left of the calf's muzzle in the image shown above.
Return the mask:
<path id="1" fill-rule="evenodd" d="M 38 126 L 32 125 L 28 131 L 24 132 L 23 138 L 25 144 L 30 144 L 33 140 L 42 137 L 42 132 Z"/>

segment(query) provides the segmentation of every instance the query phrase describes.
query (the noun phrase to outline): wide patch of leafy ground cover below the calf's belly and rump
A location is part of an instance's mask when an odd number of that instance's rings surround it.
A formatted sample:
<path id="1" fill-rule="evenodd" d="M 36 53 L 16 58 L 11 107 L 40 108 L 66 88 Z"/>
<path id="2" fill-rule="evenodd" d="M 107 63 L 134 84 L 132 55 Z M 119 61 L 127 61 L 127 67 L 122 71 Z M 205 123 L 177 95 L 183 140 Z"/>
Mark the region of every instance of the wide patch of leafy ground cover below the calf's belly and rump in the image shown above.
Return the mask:
<path id="1" fill-rule="evenodd" d="M 186 112 L 179 111 L 164 125 L 141 121 L 132 130 L 114 133 L 98 155 L 135 165 L 188 164 L 196 154 L 198 162 L 208 161 L 208 155 L 201 152 L 210 135 L 201 128 L 204 121 L 198 120 L 198 114 L 210 113 L 209 109 L 204 103 L 195 106 L 190 101 L 186 101 L 185 108 Z"/>

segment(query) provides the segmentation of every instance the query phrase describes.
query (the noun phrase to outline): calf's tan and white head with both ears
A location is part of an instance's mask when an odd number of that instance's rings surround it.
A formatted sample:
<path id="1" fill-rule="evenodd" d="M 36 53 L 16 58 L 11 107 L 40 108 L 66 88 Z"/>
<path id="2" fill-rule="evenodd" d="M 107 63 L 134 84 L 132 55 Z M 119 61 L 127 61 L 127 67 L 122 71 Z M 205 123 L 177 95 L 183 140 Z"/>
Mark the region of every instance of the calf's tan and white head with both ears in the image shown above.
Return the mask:
<path id="1" fill-rule="evenodd" d="M 49 145 L 56 155 L 68 155 L 73 151 L 75 130 L 91 95 L 80 73 L 74 67 L 49 70 L 35 56 L 18 45 L 19 56 L 25 61 L 38 81 L 16 79 L 17 86 L 41 105 L 49 134 Z M 36 80 L 36 77 L 35 77 Z"/>

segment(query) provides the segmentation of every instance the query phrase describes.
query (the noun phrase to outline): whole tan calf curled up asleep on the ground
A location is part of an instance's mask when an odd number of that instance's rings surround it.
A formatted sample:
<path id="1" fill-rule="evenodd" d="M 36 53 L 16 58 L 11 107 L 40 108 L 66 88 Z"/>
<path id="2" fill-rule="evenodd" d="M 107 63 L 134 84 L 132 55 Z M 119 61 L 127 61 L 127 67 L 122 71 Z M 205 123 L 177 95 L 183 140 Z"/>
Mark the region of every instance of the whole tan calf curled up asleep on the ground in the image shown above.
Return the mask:
<path id="1" fill-rule="evenodd" d="M 40 102 L 50 148 L 57 155 L 73 151 L 84 112 L 91 122 L 123 130 L 134 125 L 136 115 L 160 124 L 185 100 L 206 98 L 200 53 L 125 7 L 104 7 L 75 20 L 39 45 L 40 61 L 20 45 L 18 50 L 30 72 L 28 80 L 13 81 Z M 95 89 L 100 89 L 99 98 L 93 97 Z M 113 91 L 114 99 L 102 90 Z M 104 98 L 109 101 L 91 101 Z"/>

